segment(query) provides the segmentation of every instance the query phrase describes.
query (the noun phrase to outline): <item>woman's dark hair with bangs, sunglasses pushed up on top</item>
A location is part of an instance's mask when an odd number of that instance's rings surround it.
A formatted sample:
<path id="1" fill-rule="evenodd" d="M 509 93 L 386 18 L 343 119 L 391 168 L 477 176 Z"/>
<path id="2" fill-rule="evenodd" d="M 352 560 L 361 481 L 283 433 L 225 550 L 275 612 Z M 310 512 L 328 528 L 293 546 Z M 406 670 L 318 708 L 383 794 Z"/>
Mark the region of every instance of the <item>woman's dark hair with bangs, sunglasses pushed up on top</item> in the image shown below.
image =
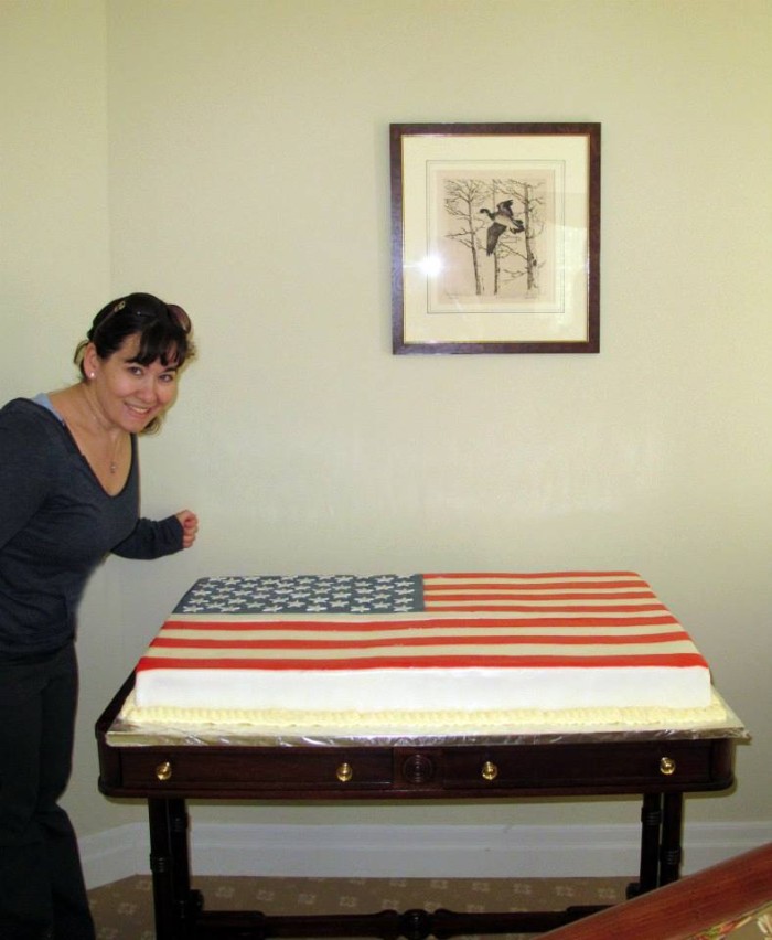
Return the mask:
<path id="1" fill-rule="evenodd" d="M 86 339 L 75 350 L 74 362 L 85 380 L 83 359 L 89 343 L 94 343 L 99 359 L 109 359 L 129 337 L 139 335 L 135 356 L 139 365 L 159 361 L 182 368 L 195 356 L 190 334 L 191 320 L 182 307 L 165 303 L 152 293 L 129 293 L 111 300 L 96 314 Z M 146 432 L 159 426 L 160 421 L 152 421 Z"/>

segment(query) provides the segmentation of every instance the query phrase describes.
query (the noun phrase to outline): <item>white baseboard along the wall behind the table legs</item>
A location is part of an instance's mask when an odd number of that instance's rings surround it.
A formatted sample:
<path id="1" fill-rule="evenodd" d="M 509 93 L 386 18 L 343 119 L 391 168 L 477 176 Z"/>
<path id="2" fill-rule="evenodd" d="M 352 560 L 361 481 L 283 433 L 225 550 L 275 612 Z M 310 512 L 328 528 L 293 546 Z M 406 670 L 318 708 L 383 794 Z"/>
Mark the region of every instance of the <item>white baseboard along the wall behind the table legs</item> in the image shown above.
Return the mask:
<path id="1" fill-rule="evenodd" d="M 636 876 L 637 825 L 229 825 L 193 822 L 194 875 L 360 878 Z M 772 822 L 693 823 L 683 873 L 772 842 Z M 89 888 L 147 874 L 148 831 L 122 825 L 81 840 Z"/>

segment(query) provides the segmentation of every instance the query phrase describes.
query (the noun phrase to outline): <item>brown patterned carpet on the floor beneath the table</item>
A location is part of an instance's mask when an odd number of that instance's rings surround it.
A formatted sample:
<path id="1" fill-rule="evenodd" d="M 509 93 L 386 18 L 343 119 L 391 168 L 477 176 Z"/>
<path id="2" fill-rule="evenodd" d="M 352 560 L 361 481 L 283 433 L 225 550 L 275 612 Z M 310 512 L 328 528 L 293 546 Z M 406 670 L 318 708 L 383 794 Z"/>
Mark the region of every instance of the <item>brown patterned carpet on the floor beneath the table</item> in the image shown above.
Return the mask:
<path id="1" fill-rule="evenodd" d="M 193 879 L 206 910 L 264 914 L 372 914 L 384 909 L 562 910 L 624 900 L 625 878 L 219 878 Z M 89 891 L 98 940 L 154 940 L 152 884 L 136 876 Z M 498 934 L 524 940 L 526 934 Z M 536 936 L 536 934 L 528 934 Z M 479 940 L 478 937 L 458 940 Z"/>

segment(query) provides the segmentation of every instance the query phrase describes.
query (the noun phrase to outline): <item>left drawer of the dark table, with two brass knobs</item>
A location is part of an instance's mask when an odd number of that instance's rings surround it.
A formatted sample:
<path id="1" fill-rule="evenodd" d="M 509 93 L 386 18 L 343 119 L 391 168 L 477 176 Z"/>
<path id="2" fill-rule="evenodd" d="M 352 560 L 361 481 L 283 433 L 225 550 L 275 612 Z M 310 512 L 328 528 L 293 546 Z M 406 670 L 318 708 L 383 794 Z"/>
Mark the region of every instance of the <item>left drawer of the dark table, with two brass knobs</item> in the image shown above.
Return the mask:
<path id="1" fill-rule="evenodd" d="M 158 749 L 153 754 L 124 751 L 122 782 L 128 788 L 202 793 L 212 790 L 270 791 L 388 789 L 392 786 L 389 752 L 372 748 L 270 749 L 259 755 L 219 748 Z"/>

